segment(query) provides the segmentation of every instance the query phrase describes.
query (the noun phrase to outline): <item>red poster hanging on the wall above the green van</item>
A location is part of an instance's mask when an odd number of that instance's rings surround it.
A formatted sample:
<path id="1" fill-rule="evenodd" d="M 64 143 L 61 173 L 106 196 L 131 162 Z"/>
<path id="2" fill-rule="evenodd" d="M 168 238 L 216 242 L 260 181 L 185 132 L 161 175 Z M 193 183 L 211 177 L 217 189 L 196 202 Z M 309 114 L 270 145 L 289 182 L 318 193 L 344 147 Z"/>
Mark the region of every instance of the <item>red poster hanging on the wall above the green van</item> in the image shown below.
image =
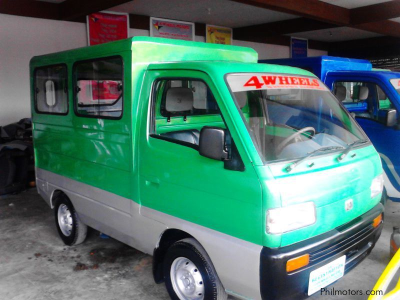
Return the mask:
<path id="1" fill-rule="evenodd" d="M 127 14 L 96 12 L 87 16 L 89 45 L 128 37 L 129 18 Z"/>

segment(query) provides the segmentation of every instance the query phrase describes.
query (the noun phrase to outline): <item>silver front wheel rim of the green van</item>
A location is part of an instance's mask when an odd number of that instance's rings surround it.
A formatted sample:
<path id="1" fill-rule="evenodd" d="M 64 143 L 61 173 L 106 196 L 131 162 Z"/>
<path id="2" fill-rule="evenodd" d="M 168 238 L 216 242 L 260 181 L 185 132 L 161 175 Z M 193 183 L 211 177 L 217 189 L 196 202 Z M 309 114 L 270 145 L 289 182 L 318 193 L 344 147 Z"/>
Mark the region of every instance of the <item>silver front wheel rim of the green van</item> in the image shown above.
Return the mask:
<path id="1" fill-rule="evenodd" d="M 204 299 L 204 281 L 197 266 L 186 257 L 172 261 L 169 276 L 180 300 Z"/>

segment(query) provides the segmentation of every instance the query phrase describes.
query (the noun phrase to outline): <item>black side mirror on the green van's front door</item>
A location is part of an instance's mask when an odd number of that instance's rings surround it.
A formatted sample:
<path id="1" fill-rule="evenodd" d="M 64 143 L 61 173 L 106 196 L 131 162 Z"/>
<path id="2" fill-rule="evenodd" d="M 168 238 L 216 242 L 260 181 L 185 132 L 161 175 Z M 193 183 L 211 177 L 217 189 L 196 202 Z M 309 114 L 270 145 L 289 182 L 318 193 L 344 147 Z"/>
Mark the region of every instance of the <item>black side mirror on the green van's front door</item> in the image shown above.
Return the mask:
<path id="1" fill-rule="evenodd" d="M 198 153 L 216 160 L 227 158 L 225 130 L 213 126 L 202 127 L 198 140 Z"/>

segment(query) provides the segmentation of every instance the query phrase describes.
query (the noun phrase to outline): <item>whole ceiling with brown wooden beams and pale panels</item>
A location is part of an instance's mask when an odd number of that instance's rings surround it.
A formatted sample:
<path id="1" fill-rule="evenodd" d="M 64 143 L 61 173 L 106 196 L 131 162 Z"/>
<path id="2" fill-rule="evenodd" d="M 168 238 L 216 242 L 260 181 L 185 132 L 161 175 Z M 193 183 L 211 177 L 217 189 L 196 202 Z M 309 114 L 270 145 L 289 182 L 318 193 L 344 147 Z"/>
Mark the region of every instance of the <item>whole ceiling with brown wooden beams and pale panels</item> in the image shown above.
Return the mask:
<path id="1" fill-rule="evenodd" d="M 360 49 L 371 38 L 386 38 L 385 48 L 400 44 L 400 0 L 0 0 L 0 13 L 57 20 L 85 22 L 101 10 L 129 13 L 138 29 L 149 28 L 149 16 L 196 22 L 203 36 L 204 24 L 232 27 L 243 41 L 289 45 L 296 36 L 315 49 L 352 40 Z"/>

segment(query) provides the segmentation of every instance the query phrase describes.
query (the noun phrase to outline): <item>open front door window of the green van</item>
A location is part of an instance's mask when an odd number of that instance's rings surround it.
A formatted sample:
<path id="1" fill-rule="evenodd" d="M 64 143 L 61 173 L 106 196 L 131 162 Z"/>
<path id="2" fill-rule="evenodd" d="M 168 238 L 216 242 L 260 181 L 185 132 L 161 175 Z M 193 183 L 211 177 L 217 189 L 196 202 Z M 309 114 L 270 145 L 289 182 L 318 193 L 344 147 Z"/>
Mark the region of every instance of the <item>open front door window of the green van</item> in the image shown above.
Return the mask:
<path id="1" fill-rule="evenodd" d="M 215 98 L 202 80 L 156 80 L 151 109 L 152 136 L 172 142 L 198 145 L 203 126 L 225 128 Z"/>

